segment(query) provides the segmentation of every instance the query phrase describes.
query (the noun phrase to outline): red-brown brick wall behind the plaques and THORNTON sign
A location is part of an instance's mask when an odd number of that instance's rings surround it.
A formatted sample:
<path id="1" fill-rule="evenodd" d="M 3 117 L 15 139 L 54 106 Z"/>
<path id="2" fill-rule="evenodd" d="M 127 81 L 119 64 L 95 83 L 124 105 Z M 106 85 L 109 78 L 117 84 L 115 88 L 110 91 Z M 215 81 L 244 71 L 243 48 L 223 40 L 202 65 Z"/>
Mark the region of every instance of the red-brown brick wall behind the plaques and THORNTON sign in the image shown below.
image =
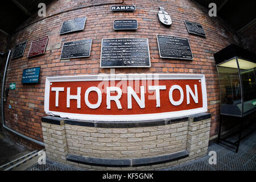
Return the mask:
<path id="1" fill-rule="evenodd" d="M 102 1 L 53 1 L 47 5 L 46 18 L 32 16 L 31 22 L 23 23 L 11 36 L 7 48 L 15 43 L 28 40 L 24 56 L 10 61 L 6 86 L 16 82 L 16 90 L 10 91 L 5 102 L 6 125 L 28 137 L 42 141 L 41 117 L 44 113 L 44 84 L 48 76 L 87 75 L 110 73 L 110 69 L 100 68 L 101 39 L 104 38 L 148 38 L 151 68 L 118 68 L 115 73 L 196 73 L 204 74 L 207 84 L 208 111 L 212 114 L 210 136 L 216 135 L 220 110 L 220 96 L 217 71 L 213 53 L 237 38 L 231 28 L 220 18 L 210 18 L 208 10 L 193 1 L 125 1 L 123 5 L 135 5 L 136 11 L 113 13 L 109 5 L 91 6 Z M 104 1 L 106 2 L 106 1 Z M 111 1 L 117 3 L 121 1 Z M 158 20 L 158 7 L 163 6 L 170 13 L 172 26 L 164 27 Z M 75 9 L 75 10 L 72 10 Z M 63 13 L 61 13 L 63 12 Z M 85 28 L 81 32 L 59 35 L 64 20 L 86 16 Z M 114 31 L 113 20 L 134 18 L 138 20 L 137 31 Z M 188 34 L 184 20 L 199 22 L 203 25 L 207 38 Z M 188 38 L 194 59 L 160 59 L 156 34 L 166 34 Z M 49 35 L 46 53 L 27 58 L 32 40 Z M 60 60 L 64 42 L 93 39 L 90 57 Z M 40 82 L 23 85 L 24 68 L 41 67 Z M 12 109 L 8 109 L 8 105 Z"/>

